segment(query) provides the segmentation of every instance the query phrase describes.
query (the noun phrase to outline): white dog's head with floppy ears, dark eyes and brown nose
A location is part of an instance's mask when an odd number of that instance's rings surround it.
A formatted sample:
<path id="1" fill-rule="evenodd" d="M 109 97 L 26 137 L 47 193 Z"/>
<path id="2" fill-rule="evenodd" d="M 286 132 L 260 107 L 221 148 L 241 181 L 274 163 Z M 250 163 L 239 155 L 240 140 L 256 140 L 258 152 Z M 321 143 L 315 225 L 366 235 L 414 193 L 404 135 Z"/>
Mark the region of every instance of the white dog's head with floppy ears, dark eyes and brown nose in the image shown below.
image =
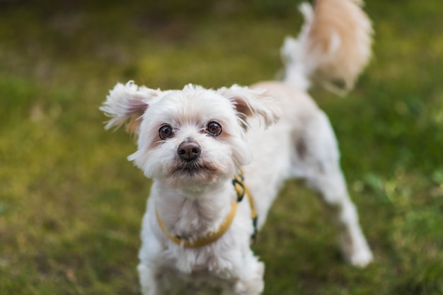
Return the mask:
<path id="1" fill-rule="evenodd" d="M 231 178 L 251 161 L 248 122 L 267 127 L 279 112 L 265 91 L 246 87 L 160 91 L 132 82 L 118 83 L 100 110 L 111 117 L 107 129 L 126 124 L 137 134 L 138 150 L 128 159 L 172 187 Z"/>

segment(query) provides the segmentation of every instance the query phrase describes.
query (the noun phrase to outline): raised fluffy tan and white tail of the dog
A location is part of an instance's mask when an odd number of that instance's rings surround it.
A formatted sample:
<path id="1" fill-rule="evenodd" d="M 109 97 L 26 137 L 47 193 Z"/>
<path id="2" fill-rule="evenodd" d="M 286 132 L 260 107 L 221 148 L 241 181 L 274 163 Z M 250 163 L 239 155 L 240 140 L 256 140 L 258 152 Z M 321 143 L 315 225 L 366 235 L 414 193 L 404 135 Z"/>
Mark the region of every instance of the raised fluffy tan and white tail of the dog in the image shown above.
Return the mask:
<path id="1" fill-rule="evenodd" d="M 318 83 L 343 94 L 353 86 L 371 55 L 372 24 L 362 0 L 316 0 L 300 11 L 299 37 L 287 37 L 282 47 L 284 82 L 307 90 Z"/>

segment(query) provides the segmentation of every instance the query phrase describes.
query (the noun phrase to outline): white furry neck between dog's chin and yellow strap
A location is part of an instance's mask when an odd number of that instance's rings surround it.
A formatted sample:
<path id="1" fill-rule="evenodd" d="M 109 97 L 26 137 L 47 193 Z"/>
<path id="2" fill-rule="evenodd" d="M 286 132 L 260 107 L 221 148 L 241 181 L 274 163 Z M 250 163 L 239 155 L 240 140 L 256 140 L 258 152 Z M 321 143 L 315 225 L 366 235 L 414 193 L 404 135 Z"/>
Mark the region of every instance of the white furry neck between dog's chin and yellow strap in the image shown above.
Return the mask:
<path id="1" fill-rule="evenodd" d="M 236 198 L 229 180 L 198 189 L 174 189 L 154 181 L 151 190 L 156 196 L 156 211 L 168 233 L 185 240 L 216 231 Z"/>

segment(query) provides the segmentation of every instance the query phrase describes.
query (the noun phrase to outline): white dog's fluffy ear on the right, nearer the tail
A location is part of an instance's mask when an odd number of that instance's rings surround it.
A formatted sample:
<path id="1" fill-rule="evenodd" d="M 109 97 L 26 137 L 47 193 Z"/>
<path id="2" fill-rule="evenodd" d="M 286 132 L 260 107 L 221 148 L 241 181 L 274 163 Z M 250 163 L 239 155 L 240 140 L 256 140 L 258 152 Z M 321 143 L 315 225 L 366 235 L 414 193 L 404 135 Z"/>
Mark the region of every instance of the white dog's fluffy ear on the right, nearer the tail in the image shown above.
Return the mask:
<path id="1" fill-rule="evenodd" d="M 230 88 L 219 88 L 217 93 L 231 100 L 243 122 L 247 123 L 250 117 L 258 117 L 260 122 L 268 127 L 280 117 L 280 106 L 265 89 L 252 89 L 234 84 Z"/>

